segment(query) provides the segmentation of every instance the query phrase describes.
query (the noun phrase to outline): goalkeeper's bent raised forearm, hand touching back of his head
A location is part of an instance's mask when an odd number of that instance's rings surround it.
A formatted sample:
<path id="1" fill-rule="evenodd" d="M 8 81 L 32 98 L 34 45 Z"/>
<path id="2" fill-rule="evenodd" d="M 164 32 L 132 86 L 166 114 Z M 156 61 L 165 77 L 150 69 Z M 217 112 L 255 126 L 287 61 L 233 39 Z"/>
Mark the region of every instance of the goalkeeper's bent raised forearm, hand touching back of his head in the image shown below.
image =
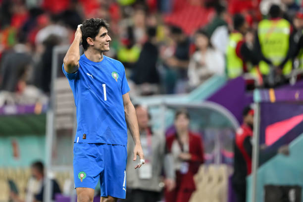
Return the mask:
<path id="1" fill-rule="evenodd" d="M 75 73 L 79 69 L 80 59 L 80 43 L 82 41 L 82 32 L 80 26 L 78 26 L 75 33 L 75 39 L 70 45 L 63 59 L 64 69 L 67 73 Z"/>

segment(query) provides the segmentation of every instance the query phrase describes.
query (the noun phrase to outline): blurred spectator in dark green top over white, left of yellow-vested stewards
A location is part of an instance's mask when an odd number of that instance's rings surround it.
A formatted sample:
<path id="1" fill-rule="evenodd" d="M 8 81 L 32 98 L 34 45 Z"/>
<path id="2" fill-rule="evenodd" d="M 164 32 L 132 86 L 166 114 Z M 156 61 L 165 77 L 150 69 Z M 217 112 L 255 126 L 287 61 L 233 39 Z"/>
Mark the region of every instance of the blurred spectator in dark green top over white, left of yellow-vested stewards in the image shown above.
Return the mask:
<path id="1" fill-rule="evenodd" d="M 220 3 L 215 5 L 216 15 L 207 25 L 207 33 L 211 44 L 222 53 L 226 53 L 228 44 L 228 25 L 226 19 L 228 13 L 226 7 Z"/>

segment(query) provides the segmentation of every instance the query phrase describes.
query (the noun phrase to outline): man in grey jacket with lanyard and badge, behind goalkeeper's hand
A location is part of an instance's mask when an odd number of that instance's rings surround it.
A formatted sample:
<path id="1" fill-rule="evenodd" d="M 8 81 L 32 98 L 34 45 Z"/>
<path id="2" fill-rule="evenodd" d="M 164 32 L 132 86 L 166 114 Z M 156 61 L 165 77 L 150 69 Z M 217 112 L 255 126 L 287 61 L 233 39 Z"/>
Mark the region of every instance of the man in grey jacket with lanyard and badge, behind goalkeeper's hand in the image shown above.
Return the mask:
<path id="1" fill-rule="evenodd" d="M 164 134 L 154 133 L 150 126 L 150 115 L 147 108 L 135 105 L 140 139 L 145 154 L 145 164 L 140 170 L 135 170 L 136 162 L 133 161 L 134 143 L 128 136 L 128 163 L 126 167 L 126 179 L 128 191 L 126 202 L 158 202 L 160 201 L 161 170 L 164 165 L 165 184 L 168 190 L 175 186 L 175 173 L 171 155 L 165 154 Z"/>

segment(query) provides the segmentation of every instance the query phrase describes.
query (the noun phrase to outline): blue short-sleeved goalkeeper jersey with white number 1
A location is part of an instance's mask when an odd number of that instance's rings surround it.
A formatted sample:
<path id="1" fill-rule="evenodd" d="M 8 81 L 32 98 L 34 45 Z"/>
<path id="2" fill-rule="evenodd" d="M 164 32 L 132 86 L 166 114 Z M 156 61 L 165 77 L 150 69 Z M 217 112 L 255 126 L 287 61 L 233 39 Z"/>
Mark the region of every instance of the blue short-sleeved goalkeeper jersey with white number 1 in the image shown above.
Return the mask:
<path id="1" fill-rule="evenodd" d="M 101 62 L 89 60 L 85 54 L 75 73 L 63 72 L 73 91 L 77 107 L 75 142 L 127 145 L 122 95 L 129 92 L 124 66 L 103 56 Z"/>

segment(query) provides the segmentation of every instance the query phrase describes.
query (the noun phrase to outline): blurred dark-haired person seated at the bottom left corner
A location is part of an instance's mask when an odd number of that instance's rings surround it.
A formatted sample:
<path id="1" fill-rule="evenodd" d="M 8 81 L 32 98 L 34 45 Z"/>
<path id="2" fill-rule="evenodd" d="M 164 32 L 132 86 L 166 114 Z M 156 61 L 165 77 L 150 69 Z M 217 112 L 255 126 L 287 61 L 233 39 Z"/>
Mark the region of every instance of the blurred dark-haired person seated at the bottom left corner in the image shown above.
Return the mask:
<path id="1" fill-rule="evenodd" d="M 41 161 L 36 161 L 31 165 L 32 178 L 28 182 L 25 201 L 21 200 L 14 192 L 10 193 L 13 202 L 42 202 L 44 194 L 44 165 Z M 35 190 L 34 181 L 38 181 L 38 189 Z M 60 194 L 60 188 L 56 180 L 51 180 L 52 184 L 52 200 L 56 194 Z"/>

